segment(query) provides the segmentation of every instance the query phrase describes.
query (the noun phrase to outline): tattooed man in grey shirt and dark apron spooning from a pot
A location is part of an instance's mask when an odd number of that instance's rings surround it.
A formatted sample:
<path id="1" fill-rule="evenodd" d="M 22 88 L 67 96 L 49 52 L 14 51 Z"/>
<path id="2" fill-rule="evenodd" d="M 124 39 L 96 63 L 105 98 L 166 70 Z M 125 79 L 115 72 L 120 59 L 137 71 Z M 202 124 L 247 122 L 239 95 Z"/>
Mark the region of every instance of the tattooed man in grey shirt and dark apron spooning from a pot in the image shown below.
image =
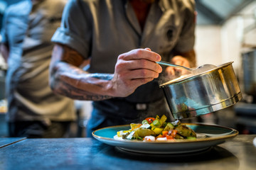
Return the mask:
<path id="1" fill-rule="evenodd" d="M 52 38 L 50 86 L 93 101 L 88 137 L 98 128 L 169 114 L 156 62 L 194 67 L 195 25 L 193 0 L 70 0 Z M 80 69 L 85 61 L 87 69 Z"/>

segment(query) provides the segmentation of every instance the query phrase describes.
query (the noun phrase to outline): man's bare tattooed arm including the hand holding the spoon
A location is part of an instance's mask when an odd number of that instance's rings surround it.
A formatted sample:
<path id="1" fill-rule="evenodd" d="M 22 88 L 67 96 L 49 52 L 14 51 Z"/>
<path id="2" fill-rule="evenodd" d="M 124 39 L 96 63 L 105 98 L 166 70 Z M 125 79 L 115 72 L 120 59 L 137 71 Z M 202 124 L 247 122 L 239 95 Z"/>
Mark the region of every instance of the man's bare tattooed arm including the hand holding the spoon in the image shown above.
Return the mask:
<path id="1" fill-rule="evenodd" d="M 78 100 L 100 101 L 125 97 L 138 86 L 159 77 L 161 57 L 137 49 L 119 55 L 114 74 L 88 74 L 79 68 L 82 55 L 65 45 L 55 45 L 50 63 L 50 87 L 55 93 Z"/>

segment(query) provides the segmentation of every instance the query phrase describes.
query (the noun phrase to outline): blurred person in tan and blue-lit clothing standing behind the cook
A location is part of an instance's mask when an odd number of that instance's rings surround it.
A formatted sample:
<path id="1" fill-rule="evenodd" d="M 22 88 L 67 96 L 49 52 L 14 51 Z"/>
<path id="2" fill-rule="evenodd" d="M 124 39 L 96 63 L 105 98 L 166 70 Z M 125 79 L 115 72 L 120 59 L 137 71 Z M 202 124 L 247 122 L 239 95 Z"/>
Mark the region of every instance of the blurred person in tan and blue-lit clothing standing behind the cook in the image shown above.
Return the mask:
<path id="1" fill-rule="evenodd" d="M 9 6 L 1 29 L 7 60 L 9 137 L 65 137 L 76 119 L 73 100 L 50 90 L 53 36 L 65 0 L 25 0 Z"/>

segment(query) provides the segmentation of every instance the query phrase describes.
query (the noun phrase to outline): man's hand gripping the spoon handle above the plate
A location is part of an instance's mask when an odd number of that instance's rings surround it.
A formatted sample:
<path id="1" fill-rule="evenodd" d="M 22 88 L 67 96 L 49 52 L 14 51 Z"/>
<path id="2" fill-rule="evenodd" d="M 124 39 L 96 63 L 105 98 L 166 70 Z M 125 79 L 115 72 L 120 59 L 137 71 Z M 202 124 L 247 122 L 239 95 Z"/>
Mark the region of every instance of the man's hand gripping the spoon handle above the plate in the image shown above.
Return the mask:
<path id="1" fill-rule="evenodd" d="M 149 49 L 136 49 L 119 55 L 112 79 L 113 96 L 129 96 L 138 86 L 159 77 L 160 55 Z"/>

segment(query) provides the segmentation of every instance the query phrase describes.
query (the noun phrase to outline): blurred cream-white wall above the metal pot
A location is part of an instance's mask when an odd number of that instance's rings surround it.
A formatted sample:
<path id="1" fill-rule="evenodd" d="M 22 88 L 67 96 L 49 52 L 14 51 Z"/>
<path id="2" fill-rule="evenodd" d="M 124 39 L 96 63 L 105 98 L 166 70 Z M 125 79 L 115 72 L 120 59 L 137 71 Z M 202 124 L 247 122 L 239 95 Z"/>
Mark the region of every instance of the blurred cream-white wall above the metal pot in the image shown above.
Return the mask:
<path id="1" fill-rule="evenodd" d="M 255 9 L 256 1 L 232 16 L 223 26 L 197 26 L 195 50 L 198 65 L 234 62 L 235 72 L 238 72 L 241 52 L 248 50 L 244 44 L 256 47 L 256 28 L 250 33 L 244 33 L 247 26 L 256 24 L 253 16 Z"/>

